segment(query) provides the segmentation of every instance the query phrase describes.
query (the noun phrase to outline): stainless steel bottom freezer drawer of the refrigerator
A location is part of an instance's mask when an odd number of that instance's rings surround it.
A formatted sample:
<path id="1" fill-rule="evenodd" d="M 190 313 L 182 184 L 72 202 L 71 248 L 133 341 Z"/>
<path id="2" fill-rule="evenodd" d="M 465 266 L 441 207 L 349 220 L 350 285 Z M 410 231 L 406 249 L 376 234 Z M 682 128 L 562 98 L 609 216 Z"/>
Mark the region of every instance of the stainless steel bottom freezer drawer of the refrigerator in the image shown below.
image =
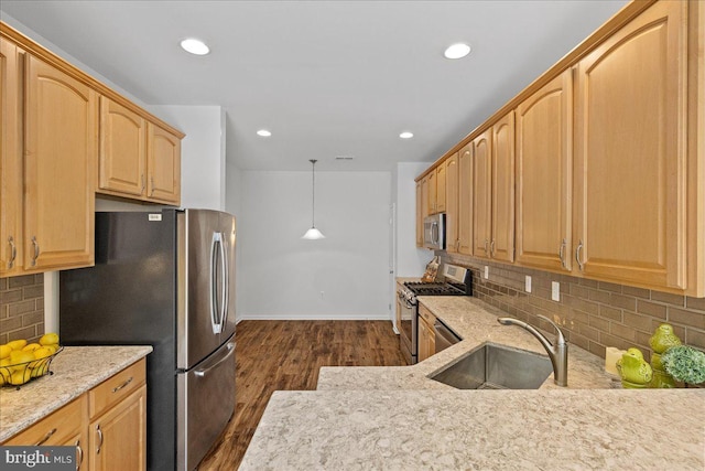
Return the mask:
<path id="1" fill-rule="evenodd" d="M 195 469 L 235 411 L 235 335 L 187 372 L 177 374 L 176 469 Z"/>

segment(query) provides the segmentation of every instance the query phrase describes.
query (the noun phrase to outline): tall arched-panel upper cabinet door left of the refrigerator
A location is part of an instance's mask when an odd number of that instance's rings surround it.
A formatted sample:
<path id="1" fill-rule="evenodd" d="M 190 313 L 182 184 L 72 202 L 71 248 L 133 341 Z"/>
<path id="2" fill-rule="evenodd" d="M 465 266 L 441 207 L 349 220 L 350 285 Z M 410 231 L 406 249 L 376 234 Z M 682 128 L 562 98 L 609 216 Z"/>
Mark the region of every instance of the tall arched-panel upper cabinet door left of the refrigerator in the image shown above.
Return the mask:
<path id="1" fill-rule="evenodd" d="M 33 56 L 26 58 L 24 268 L 94 261 L 98 97 Z"/>

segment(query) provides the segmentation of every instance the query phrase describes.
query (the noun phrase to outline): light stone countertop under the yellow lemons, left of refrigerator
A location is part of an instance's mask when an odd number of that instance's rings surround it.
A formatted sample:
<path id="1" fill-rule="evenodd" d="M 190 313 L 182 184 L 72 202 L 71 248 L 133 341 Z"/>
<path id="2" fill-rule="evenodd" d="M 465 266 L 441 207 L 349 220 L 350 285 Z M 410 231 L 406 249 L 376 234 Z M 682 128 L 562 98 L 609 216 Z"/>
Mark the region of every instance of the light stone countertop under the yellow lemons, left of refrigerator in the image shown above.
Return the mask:
<path id="1" fill-rule="evenodd" d="M 51 364 L 52 375 L 18 390 L 0 388 L 0 442 L 102 383 L 152 352 L 147 345 L 65 346 Z"/>

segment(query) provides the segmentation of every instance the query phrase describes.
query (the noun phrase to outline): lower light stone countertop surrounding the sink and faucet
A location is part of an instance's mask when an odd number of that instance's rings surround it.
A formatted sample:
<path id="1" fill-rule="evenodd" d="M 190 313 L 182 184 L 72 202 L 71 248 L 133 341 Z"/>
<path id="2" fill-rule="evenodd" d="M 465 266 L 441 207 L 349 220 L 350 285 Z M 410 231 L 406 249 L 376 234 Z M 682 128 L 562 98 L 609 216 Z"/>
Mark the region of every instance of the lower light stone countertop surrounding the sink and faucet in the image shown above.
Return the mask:
<path id="1" fill-rule="evenodd" d="M 430 379 L 434 373 L 462 360 L 485 343 L 508 345 L 547 357 L 536 338 L 517 325 L 501 325 L 497 318 L 508 315 L 478 300 L 464 296 L 426 296 L 419 300 L 463 341 L 411 366 L 324 366 L 318 373 L 317 389 L 451 389 Z M 554 334 L 545 332 L 553 342 Z M 595 389 L 619 385 L 605 373 L 605 360 L 568 344 L 568 388 Z M 560 388 L 553 373 L 541 389 Z"/>

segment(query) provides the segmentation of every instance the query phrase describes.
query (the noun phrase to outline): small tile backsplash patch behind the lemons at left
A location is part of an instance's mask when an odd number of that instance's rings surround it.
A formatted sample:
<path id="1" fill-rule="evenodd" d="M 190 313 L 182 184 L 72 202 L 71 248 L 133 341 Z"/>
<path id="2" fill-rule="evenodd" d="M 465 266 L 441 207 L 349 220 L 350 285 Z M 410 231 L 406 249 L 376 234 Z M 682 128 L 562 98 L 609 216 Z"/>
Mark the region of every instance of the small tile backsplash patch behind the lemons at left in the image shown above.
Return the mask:
<path id="1" fill-rule="evenodd" d="M 0 344 L 44 334 L 44 275 L 0 278 Z"/>

